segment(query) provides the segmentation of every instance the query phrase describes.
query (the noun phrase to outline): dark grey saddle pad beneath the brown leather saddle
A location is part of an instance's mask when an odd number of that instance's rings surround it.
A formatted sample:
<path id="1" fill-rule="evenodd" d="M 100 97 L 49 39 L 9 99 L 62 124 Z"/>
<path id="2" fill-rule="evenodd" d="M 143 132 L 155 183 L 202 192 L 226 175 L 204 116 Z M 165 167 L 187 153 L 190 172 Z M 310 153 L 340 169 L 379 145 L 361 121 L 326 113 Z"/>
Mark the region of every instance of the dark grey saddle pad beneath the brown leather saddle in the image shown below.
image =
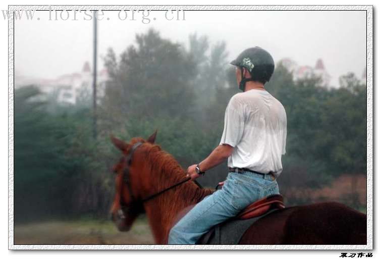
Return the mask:
<path id="1" fill-rule="evenodd" d="M 243 234 L 254 222 L 275 211 L 278 211 L 278 209 L 268 211 L 266 214 L 247 220 L 229 219 L 214 226 L 204 234 L 196 244 L 237 245 Z"/>

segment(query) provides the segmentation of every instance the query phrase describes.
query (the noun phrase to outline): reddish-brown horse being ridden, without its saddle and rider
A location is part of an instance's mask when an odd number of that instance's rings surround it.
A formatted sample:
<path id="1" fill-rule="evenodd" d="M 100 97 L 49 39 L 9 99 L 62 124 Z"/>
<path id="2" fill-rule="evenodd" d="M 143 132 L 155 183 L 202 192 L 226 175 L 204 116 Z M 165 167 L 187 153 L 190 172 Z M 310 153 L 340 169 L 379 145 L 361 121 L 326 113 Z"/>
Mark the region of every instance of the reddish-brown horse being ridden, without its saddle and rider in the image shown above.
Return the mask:
<path id="1" fill-rule="evenodd" d="M 123 157 L 114 167 L 116 194 L 111 211 L 121 231 L 128 231 L 145 211 L 155 242 L 166 244 L 179 213 L 213 190 L 183 182 L 185 171 L 172 155 L 153 144 L 155 137 L 156 133 L 147 141 L 133 138 L 130 143 L 112 137 Z M 178 183 L 182 184 L 174 186 Z M 366 244 L 366 215 L 337 202 L 287 207 L 255 222 L 240 243 Z"/>

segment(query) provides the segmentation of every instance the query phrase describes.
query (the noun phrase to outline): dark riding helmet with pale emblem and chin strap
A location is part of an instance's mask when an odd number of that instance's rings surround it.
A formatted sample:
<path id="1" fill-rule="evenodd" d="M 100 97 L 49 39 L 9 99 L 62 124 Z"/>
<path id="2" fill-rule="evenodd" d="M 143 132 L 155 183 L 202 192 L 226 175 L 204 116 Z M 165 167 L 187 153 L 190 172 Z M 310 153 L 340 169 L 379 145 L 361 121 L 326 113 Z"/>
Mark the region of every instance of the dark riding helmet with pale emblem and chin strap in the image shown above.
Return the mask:
<path id="1" fill-rule="evenodd" d="M 269 81 L 275 67 L 273 57 L 266 50 L 258 46 L 245 49 L 230 64 L 241 68 L 242 79 L 239 87 L 242 91 L 245 91 L 247 81 L 260 81 L 263 84 Z M 242 68 L 246 68 L 249 71 L 251 78 L 244 78 Z"/>

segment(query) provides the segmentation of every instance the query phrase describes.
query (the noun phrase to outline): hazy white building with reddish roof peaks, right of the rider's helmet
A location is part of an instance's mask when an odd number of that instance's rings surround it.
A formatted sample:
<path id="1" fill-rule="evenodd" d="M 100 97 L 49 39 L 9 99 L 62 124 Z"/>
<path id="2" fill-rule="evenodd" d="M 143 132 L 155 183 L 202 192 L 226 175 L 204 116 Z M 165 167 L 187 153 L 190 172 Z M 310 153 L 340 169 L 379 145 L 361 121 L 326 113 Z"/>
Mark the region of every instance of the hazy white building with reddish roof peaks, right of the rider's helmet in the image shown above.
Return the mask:
<path id="1" fill-rule="evenodd" d="M 289 58 L 280 60 L 280 63 L 292 73 L 294 80 L 320 76 L 322 83 L 325 86 L 328 86 L 331 81 L 331 76 L 328 74 L 328 72 L 326 72 L 323 61 L 321 59 L 316 61 L 315 67 L 310 67 L 307 65 L 299 66 L 295 61 Z"/>

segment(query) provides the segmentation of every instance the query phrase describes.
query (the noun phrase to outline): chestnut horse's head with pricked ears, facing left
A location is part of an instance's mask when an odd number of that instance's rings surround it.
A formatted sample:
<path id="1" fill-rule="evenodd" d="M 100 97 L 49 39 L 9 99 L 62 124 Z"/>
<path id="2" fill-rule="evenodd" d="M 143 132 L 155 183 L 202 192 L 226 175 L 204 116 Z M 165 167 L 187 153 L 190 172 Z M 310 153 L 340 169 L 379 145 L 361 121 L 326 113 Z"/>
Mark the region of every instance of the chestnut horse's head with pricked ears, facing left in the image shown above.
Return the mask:
<path id="1" fill-rule="evenodd" d="M 136 217 L 144 212 L 138 181 L 139 174 L 143 172 L 144 156 L 139 156 L 142 152 L 139 148 L 144 143 L 154 143 L 155 138 L 156 132 L 147 140 L 133 138 L 130 143 L 111 137 L 114 145 L 123 152 L 119 163 L 113 168 L 116 192 L 111 209 L 112 220 L 120 231 L 129 231 Z"/>

